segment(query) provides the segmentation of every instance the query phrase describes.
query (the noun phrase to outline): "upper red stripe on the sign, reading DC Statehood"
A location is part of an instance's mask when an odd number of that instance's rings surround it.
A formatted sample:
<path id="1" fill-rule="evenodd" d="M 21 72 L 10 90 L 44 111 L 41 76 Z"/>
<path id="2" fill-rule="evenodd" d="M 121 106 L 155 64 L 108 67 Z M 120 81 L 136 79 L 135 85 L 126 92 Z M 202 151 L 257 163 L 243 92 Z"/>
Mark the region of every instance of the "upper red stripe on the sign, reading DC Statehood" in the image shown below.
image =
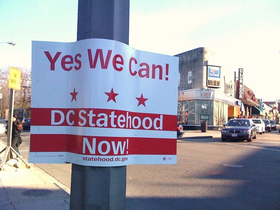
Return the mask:
<path id="1" fill-rule="evenodd" d="M 35 126 L 80 126 L 175 131 L 177 115 L 110 109 L 31 108 Z"/>

